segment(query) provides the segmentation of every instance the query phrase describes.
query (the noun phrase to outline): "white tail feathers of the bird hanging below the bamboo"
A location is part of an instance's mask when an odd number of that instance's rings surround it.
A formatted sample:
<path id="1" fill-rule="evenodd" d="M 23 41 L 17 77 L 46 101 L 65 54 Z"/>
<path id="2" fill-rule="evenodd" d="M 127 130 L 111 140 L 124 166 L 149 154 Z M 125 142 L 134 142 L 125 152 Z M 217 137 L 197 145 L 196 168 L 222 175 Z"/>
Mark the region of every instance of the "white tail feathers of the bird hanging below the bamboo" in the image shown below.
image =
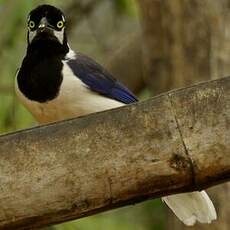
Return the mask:
<path id="1" fill-rule="evenodd" d="M 205 191 L 165 196 L 162 200 L 186 225 L 194 225 L 196 221 L 211 223 L 216 219 L 216 210 Z"/>

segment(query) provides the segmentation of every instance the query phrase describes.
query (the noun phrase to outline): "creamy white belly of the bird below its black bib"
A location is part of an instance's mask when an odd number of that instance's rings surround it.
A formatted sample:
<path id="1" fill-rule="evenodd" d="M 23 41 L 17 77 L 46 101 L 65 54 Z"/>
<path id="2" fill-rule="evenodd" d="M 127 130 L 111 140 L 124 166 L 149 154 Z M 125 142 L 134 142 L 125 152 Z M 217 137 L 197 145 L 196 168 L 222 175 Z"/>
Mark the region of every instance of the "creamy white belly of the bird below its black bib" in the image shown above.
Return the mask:
<path id="1" fill-rule="evenodd" d="M 89 90 L 73 75 L 71 69 L 63 64 L 65 74 L 60 92 L 51 101 L 39 103 L 27 99 L 19 91 L 16 81 L 16 93 L 19 99 L 39 123 L 60 121 L 124 105 Z"/>

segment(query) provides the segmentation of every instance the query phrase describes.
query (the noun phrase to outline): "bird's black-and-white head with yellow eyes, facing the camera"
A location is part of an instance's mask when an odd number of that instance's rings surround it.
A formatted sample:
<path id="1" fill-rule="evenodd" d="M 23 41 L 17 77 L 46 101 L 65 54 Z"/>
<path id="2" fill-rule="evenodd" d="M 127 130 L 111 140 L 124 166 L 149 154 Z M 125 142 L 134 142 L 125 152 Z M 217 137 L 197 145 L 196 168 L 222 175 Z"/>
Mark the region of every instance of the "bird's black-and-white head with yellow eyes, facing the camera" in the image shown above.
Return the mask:
<path id="1" fill-rule="evenodd" d="M 28 15 L 28 45 L 37 41 L 66 45 L 65 23 L 61 10 L 50 5 L 38 6 Z"/>

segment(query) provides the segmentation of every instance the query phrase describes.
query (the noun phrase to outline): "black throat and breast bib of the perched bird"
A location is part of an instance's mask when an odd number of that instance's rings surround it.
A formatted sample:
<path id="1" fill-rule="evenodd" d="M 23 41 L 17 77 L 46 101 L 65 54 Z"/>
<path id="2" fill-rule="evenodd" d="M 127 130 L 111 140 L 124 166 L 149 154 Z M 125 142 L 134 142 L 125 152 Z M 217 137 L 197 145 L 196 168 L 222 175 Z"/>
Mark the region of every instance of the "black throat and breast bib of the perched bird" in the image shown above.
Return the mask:
<path id="1" fill-rule="evenodd" d="M 65 52 L 53 41 L 39 40 L 28 47 L 17 76 L 18 88 L 25 97 L 44 103 L 58 96 Z"/>

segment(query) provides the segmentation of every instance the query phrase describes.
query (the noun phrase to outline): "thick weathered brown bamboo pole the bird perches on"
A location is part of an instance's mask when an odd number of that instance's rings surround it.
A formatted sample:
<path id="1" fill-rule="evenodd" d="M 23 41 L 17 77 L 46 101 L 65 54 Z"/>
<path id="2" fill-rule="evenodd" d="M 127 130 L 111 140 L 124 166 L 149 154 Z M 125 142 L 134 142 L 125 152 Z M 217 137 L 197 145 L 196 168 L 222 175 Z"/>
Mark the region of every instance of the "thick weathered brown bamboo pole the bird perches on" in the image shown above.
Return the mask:
<path id="1" fill-rule="evenodd" d="M 230 180 L 230 77 L 0 137 L 0 229 Z"/>

